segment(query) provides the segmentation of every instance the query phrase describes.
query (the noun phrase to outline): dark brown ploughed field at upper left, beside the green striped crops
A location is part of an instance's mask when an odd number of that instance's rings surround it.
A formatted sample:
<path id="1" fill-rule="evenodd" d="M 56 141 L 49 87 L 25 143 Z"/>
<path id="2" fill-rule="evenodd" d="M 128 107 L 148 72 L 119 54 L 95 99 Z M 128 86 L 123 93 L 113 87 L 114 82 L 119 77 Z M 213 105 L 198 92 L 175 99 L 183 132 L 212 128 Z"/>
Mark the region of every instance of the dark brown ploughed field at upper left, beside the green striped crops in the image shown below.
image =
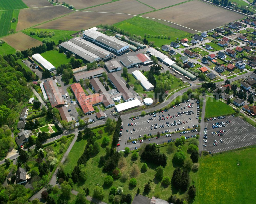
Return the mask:
<path id="1" fill-rule="evenodd" d="M 39 23 L 63 16 L 70 12 L 72 12 L 72 10 L 64 6 L 21 9 L 16 31 L 38 25 Z"/>

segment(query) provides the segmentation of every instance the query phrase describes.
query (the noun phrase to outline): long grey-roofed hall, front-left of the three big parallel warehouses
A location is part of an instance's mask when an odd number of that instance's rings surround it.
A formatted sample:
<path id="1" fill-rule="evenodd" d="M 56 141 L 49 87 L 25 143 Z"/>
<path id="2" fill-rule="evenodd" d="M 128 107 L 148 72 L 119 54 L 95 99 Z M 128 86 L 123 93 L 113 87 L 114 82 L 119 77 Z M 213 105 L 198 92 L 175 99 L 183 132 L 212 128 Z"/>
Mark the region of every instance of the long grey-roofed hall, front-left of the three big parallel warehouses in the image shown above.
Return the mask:
<path id="1" fill-rule="evenodd" d="M 72 53 L 80 56 L 81 58 L 87 60 L 88 62 L 94 62 L 100 59 L 98 55 L 95 55 L 94 53 L 83 49 L 82 47 L 74 44 L 71 41 L 62 42 L 60 43 L 60 46 L 64 47 L 65 49 L 71 51 Z"/>

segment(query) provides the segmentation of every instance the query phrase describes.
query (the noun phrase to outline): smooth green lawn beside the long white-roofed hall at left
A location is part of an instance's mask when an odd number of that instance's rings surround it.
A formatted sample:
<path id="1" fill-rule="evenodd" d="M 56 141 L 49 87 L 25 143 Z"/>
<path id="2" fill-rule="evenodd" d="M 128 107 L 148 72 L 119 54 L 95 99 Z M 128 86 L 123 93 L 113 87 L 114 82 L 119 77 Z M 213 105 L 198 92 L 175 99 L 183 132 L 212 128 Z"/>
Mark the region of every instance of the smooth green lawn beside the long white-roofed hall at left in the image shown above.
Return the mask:
<path id="1" fill-rule="evenodd" d="M 46 51 L 41 55 L 55 67 L 58 67 L 61 64 L 66 64 L 70 61 L 70 58 L 67 58 L 64 53 L 59 53 L 59 51 L 56 50 Z"/>

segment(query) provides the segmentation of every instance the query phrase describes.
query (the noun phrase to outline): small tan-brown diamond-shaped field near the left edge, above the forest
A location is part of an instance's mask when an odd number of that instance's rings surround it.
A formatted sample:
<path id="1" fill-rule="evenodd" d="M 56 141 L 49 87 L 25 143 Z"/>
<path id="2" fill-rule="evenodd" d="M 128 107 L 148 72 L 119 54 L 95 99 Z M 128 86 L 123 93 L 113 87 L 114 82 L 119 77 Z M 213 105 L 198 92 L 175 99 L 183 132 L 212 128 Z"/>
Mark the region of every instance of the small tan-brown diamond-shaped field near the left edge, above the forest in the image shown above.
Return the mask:
<path id="1" fill-rule="evenodd" d="M 14 49 L 20 50 L 20 51 L 26 50 L 31 47 L 36 47 L 42 44 L 41 41 L 31 38 L 30 36 L 22 32 L 8 35 L 3 39 L 7 44 L 12 46 Z"/>

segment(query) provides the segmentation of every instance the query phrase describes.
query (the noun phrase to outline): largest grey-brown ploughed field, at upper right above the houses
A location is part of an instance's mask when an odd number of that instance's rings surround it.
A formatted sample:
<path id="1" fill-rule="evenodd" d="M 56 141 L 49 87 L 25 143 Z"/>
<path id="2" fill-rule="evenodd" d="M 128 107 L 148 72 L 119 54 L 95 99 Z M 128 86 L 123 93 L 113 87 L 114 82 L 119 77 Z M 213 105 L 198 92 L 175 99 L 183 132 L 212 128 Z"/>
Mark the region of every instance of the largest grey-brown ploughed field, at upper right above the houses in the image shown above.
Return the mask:
<path id="1" fill-rule="evenodd" d="M 198 0 L 151 12 L 143 16 L 168 20 L 197 31 L 210 30 L 244 17 Z"/>

